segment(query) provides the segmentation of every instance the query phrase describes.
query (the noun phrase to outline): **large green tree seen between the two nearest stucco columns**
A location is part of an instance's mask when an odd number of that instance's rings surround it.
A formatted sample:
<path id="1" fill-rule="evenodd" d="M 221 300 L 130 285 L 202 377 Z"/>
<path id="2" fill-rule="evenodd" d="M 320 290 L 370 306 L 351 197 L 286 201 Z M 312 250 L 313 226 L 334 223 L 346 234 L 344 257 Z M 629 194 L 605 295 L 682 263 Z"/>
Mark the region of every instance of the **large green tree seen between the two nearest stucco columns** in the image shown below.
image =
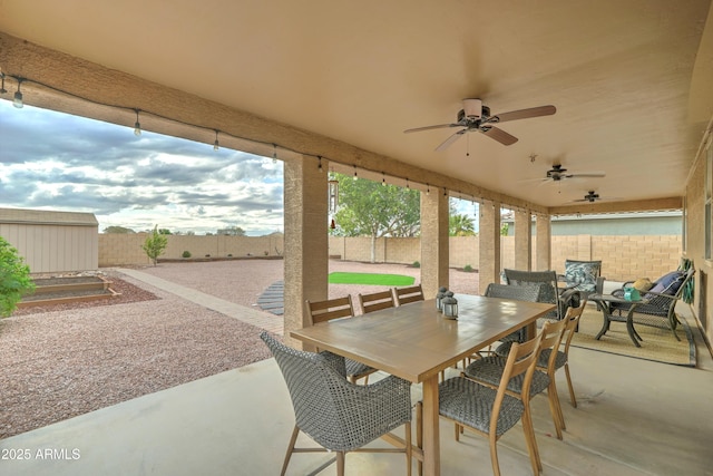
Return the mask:
<path id="1" fill-rule="evenodd" d="M 335 174 L 339 210 L 333 218 L 340 236 L 371 236 L 371 262 L 377 258 L 377 239 L 416 236 L 420 231 L 421 206 L 418 191 Z"/>

